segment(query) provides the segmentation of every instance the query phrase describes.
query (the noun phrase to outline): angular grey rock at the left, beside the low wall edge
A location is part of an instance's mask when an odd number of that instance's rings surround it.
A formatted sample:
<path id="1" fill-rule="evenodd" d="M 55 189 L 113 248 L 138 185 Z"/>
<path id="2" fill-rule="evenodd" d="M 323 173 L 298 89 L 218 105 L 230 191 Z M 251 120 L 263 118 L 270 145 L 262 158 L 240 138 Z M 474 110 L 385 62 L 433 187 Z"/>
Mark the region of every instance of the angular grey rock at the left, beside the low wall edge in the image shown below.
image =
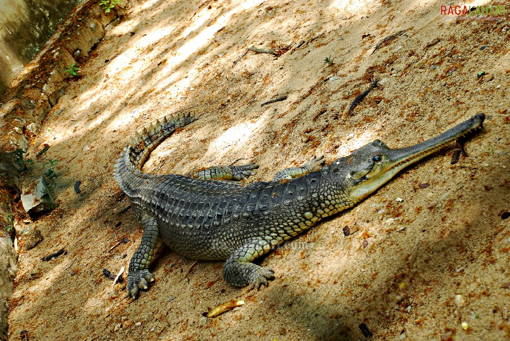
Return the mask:
<path id="1" fill-rule="evenodd" d="M 28 214 L 33 215 L 53 210 L 56 207 L 53 195 L 42 176 L 39 179 L 23 184 L 22 188 L 21 202 Z"/>

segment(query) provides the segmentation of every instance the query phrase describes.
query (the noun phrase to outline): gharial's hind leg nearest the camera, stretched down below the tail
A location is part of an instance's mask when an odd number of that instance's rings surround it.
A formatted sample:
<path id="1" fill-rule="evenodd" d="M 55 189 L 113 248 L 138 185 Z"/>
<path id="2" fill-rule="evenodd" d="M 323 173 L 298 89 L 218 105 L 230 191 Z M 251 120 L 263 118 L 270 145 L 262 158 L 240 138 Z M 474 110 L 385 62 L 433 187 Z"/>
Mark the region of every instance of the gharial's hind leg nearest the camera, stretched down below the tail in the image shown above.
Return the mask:
<path id="1" fill-rule="evenodd" d="M 148 268 L 154 258 L 154 249 L 159 239 L 158 222 L 155 218 L 144 215 L 142 225 L 142 242 L 129 263 L 127 274 L 127 293 L 133 298 L 138 295 L 138 289 L 147 289 L 148 282 L 155 280 Z"/>

